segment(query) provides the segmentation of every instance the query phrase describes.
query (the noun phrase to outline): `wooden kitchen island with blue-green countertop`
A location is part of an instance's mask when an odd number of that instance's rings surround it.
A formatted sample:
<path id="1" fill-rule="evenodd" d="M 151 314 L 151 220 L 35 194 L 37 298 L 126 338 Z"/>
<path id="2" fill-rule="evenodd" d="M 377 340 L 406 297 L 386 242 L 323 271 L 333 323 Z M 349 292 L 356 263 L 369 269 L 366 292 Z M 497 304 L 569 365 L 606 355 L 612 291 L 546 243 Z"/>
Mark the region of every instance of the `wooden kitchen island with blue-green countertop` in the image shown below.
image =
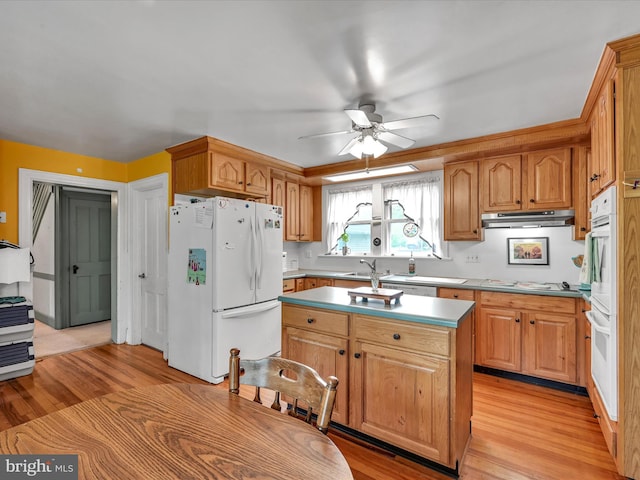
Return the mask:
<path id="1" fill-rule="evenodd" d="M 334 428 L 457 474 L 471 436 L 471 301 L 282 295 L 282 355 L 340 380 Z"/>

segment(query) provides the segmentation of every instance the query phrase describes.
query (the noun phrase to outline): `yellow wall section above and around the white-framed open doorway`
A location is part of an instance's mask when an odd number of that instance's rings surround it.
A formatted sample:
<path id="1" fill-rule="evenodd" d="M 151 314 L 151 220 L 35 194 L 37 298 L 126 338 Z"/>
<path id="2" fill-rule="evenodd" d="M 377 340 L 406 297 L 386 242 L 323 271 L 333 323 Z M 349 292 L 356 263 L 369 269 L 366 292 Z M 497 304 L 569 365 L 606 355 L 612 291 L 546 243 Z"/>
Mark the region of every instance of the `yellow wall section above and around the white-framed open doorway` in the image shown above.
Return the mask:
<path id="1" fill-rule="evenodd" d="M 13 243 L 18 243 L 20 168 L 129 182 L 158 173 L 170 174 L 171 156 L 161 152 L 125 164 L 0 139 L 0 211 L 7 212 L 7 223 L 0 223 L 0 239 Z"/>

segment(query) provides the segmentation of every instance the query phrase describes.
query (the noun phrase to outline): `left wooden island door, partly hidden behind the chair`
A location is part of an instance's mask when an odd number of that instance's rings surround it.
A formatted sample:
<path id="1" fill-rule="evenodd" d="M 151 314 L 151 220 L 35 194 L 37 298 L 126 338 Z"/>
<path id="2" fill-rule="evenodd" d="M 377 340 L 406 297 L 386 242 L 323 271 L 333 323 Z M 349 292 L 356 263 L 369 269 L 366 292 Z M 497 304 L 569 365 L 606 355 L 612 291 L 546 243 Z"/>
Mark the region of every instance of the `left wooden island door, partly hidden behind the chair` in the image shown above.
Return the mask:
<path id="1" fill-rule="evenodd" d="M 322 378 L 334 375 L 338 378 L 336 401 L 331 420 L 343 425 L 349 422 L 348 392 L 348 352 L 346 338 L 334 337 L 299 328 L 286 327 L 283 330 L 282 356 L 309 365 Z"/>

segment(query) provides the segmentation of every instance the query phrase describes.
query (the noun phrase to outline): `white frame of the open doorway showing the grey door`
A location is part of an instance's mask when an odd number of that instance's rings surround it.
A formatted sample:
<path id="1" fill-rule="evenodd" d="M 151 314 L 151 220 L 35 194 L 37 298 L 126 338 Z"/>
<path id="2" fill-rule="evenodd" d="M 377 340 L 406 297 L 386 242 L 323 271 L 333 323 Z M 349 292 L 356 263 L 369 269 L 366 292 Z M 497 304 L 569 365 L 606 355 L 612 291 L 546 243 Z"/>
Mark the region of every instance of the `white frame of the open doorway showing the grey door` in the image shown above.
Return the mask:
<path id="1" fill-rule="evenodd" d="M 19 216 L 19 241 L 25 248 L 33 245 L 33 182 L 46 182 L 73 187 L 95 188 L 108 190 L 117 195 L 117 226 L 116 226 L 116 334 L 113 339 L 116 343 L 131 343 L 135 341 L 131 337 L 134 322 L 131 315 L 131 252 L 128 248 L 129 211 L 127 184 L 96 178 L 78 177 L 60 173 L 43 172 L 39 170 L 18 169 L 18 216 Z M 113 278 L 113 277 L 112 277 Z M 113 280 L 112 280 L 113 281 Z M 33 296 L 33 284 L 25 286 L 26 296 Z M 138 328 L 139 329 L 139 328 Z M 139 342 L 138 342 L 139 343 Z"/>

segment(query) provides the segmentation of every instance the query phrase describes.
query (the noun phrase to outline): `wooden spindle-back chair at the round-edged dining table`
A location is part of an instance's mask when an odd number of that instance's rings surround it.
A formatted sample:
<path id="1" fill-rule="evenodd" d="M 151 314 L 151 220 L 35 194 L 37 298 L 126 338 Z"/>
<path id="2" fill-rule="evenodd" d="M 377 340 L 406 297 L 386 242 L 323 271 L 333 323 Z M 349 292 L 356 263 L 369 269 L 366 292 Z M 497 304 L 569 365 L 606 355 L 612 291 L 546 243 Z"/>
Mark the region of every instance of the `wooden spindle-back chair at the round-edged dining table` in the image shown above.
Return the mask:
<path id="1" fill-rule="evenodd" d="M 241 376 L 240 370 L 244 370 Z M 242 382 L 240 382 L 242 380 Z M 330 376 L 325 381 L 313 368 L 281 357 L 266 357 L 260 360 L 240 360 L 240 350 L 231 349 L 229 358 L 229 391 L 240 393 L 240 383 L 256 387 L 254 402 L 262 403 L 260 388 L 275 391 L 271 408 L 282 410 L 280 394 L 293 399 L 289 415 L 298 417 L 298 400 L 307 407 L 304 420 L 312 423 L 312 412 L 316 414 L 316 427 L 326 434 L 331 421 L 331 412 L 336 398 L 338 379 Z"/>

